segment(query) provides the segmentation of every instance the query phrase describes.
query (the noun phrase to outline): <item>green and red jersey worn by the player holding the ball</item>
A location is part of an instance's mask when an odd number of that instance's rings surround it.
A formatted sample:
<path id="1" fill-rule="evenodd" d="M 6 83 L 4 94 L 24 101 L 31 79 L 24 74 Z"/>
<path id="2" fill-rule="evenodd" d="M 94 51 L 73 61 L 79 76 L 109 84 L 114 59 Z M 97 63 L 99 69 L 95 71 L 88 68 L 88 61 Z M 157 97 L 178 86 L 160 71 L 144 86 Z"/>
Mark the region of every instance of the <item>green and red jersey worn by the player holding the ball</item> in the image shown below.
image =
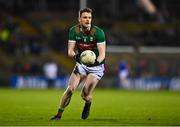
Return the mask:
<path id="1" fill-rule="evenodd" d="M 99 52 L 97 45 L 106 43 L 104 31 L 102 29 L 92 25 L 90 31 L 84 33 L 82 31 L 81 25 L 79 24 L 70 28 L 69 41 L 76 43 L 78 57 L 84 50 L 92 50 L 98 57 Z M 102 63 L 104 62 L 105 60 L 103 60 Z"/>

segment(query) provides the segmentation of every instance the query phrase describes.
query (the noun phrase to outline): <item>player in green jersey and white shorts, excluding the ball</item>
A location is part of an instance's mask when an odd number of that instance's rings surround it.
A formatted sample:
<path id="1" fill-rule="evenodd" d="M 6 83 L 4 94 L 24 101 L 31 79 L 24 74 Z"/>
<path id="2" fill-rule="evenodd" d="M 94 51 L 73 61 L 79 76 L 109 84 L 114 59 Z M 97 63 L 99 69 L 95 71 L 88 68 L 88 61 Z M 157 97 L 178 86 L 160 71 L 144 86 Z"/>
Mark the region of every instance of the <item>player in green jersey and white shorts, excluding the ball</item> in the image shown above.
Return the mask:
<path id="1" fill-rule="evenodd" d="M 87 119 L 92 102 L 92 91 L 104 75 L 104 62 L 106 42 L 102 29 L 91 24 L 92 10 L 84 8 L 79 11 L 79 24 L 69 31 L 68 56 L 76 60 L 75 68 L 69 78 L 68 87 L 65 90 L 59 105 L 57 114 L 51 120 L 61 119 L 62 113 L 71 100 L 71 96 L 81 81 L 84 81 L 81 96 L 85 101 L 82 111 L 82 119 Z M 95 52 L 97 59 L 92 65 L 84 65 L 80 61 L 80 54 L 85 50 Z"/>

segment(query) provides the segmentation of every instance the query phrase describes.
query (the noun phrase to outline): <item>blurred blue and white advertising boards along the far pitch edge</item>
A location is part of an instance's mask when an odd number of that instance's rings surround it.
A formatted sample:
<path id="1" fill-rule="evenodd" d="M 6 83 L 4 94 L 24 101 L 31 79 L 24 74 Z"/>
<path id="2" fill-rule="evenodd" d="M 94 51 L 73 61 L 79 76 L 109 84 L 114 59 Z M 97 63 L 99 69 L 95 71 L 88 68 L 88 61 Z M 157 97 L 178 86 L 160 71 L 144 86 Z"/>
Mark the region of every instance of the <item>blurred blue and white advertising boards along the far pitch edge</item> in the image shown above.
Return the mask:
<path id="1" fill-rule="evenodd" d="M 53 88 L 64 88 L 67 85 L 69 76 L 59 76 L 54 80 Z M 13 88 L 48 88 L 48 80 L 44 76 L 21 76 L 15 75 L 10 78 L 10 85 Z M 122 88 L 122 87 L 121 87 Z M 180 78 L 128 78 L 123 89 L 137 90 L 180 90 Z"/>

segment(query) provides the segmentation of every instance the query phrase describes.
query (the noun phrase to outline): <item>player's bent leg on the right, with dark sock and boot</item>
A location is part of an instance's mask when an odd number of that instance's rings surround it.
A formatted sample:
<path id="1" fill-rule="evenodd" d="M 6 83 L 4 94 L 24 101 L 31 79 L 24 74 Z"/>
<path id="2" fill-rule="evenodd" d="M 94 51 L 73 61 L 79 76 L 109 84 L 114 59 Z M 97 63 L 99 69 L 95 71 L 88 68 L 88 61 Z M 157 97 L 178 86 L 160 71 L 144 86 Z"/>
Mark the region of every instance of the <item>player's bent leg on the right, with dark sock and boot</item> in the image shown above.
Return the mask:
<path id="1" fill-rule="evenodd" d="M 92 100 L 92 91 L 98 83 L 98 79 L 94 75 L 89 74 L 85 80 L 84 87 L 82 89 L 81 96 L 85 100 L 85 105 L 82 112 L 82 119 L 87 119 L 90 112 L 91 100 Z"/>

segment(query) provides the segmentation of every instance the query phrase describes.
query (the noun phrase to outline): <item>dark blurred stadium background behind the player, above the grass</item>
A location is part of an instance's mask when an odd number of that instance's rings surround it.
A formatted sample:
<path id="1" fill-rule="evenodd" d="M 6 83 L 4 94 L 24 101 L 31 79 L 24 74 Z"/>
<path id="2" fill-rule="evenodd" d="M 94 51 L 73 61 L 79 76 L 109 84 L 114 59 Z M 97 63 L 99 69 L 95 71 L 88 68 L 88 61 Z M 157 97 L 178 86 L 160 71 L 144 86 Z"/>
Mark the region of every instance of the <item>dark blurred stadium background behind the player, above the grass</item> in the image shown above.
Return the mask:
<path id="1" fill-rule="evenodd" d="M 180 90 L 179 0 L 0 0 L 0 87 L 66 87 L 68 32 L 86 6 L 107 41 L 97 87 Z"/>

